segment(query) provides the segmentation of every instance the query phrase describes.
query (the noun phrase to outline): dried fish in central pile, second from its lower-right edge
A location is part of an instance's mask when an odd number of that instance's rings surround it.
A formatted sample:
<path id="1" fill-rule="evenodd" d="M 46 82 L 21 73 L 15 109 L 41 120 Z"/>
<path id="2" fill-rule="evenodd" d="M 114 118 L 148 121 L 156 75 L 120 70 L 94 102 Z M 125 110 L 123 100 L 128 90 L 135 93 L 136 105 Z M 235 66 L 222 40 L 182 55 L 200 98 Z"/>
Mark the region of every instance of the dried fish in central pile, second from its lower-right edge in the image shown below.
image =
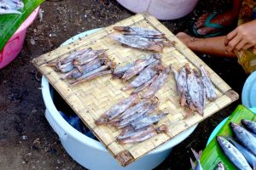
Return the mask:
<path id="1" fill-rule="evenodd" d="M 163 70 L 163 66 L 160 65 L 149 65 L 143 71 L 140 72 L 140 74 L 127 86 L 122 88 L 122 90 L 129 90 L 131 88 L 137 88 L 143 83 L 148 82 L 154 75 L 157 74 L 158 71 Z"/>

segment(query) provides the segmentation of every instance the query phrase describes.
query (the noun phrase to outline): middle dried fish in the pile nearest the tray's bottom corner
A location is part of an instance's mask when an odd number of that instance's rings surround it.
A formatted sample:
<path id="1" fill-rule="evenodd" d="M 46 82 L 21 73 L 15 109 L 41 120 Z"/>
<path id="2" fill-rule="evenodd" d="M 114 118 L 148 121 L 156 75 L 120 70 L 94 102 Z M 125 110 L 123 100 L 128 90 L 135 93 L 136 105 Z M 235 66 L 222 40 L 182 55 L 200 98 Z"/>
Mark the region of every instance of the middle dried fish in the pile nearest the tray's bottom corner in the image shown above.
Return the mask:
<path id="1" fill-rule="evenodd" d="M 122 119 L 115 126 L 118 128 L 123 128 L 129 126 L 132 122 L 135 122 L 140 117 L 148 116 L 151 112 L 155 110 L 157 107 L 157 103 L 153 103 L 152 105 L 146 105 L 146 107 L 142 108 L 142 110 L 138 110 L 136 114 L 133 114 L 127 118 Z"/>

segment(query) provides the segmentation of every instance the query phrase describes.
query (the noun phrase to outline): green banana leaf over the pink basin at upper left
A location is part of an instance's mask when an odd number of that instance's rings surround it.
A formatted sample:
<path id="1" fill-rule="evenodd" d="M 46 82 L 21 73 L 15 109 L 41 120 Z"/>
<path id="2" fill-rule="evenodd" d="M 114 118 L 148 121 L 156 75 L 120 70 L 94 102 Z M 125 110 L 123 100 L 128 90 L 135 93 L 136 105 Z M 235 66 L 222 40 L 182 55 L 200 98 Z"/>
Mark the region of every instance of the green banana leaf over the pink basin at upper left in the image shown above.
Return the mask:
<path id="1" fill-rule="evenodd" d="M 22 14 L 0 14 L 0 51 L 24 20 L 43 2 L 44 0 L 23 0 L 24 8 L 19 9 Z"/>

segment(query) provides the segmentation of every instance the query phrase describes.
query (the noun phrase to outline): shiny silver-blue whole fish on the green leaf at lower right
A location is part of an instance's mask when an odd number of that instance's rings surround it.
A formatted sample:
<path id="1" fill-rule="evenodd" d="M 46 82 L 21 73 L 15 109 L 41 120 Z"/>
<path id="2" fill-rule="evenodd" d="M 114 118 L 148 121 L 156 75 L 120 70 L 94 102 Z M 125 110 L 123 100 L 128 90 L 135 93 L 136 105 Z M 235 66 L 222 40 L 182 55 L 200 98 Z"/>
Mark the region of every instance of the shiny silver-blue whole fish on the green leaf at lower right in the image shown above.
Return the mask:
<path id="1" fill-rule="evenodd" d="M 217 136 L 217 141 L 224 155 L 241 170 L 252 170 L 256 168 L 256 122 L 241 120 L 244 127 L 230 122 L 230 127 L 236 136 Z"/>

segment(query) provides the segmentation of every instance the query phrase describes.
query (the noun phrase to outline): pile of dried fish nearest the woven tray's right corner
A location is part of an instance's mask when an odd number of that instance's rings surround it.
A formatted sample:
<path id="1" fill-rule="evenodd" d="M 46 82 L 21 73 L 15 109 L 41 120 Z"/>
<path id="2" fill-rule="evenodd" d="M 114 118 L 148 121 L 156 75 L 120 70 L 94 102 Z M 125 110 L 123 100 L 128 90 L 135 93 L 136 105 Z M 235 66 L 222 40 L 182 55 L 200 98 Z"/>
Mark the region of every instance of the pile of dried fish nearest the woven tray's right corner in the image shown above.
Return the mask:
<path id="1" fill-rule="evenodd" d="M 206 98 L 210 101 L 216 99 L 215 88 L 203 65 L 200 70 L 201 75 L 195 69 L 192 70 L 189 64 L 183 65 L 179 72 L 172 68 L 177 93 L 180 95 L 180 105 L 189 110 L 187 116 L 190 116 L 192 111 L 198 111 L 203 116 Z"/>

